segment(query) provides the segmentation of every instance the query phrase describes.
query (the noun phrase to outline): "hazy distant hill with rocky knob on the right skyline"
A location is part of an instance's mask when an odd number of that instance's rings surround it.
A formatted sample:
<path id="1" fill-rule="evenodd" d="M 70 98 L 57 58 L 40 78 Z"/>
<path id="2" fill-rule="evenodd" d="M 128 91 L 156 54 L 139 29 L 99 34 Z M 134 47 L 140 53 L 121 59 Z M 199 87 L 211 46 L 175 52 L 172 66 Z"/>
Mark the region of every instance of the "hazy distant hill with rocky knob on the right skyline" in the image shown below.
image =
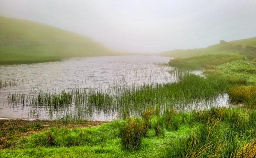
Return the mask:
<path id="1" fill-rule="evenodd" d="M 254 52 L 254 46 L 256 47 L 256 37 L 250 39 L 234 40 L 226 42 L 221 40 L 219 44 L 211 45 L 206 48 L 199 49 L 176 49 L 159 53 L 158 55 L 175 57 L 175 58 L 189 58 L 205 54 L 217 54 L 217 53 L 243 53 L 247 56 L 256 55 Z"/>

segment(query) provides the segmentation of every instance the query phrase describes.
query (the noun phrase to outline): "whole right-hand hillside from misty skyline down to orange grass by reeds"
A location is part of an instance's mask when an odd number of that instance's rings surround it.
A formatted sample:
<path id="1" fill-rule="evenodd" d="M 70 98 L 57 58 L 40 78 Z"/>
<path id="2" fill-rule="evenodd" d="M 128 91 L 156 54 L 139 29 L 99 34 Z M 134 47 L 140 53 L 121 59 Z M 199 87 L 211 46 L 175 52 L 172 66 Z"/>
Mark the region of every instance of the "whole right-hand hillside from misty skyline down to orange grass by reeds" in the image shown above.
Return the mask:
<path id="1" fill-rule="evenodd" d="M 180 54 L 175 54 L 175 51 L 166 52 L 161 55 L 187 57 L 170 60 L 168 63 L 170 66 L 189 70 L 206 69 L 203 74 L 207 77 L 219 76 L 225 78 L 227 84 L 231 84 L 227 90 L 231 103 L 245 104 L 255 108 L 255 45 L 256 38 L 231 42 L 221 40 L 219 44 L 207 48 L 183 50 Z"/>

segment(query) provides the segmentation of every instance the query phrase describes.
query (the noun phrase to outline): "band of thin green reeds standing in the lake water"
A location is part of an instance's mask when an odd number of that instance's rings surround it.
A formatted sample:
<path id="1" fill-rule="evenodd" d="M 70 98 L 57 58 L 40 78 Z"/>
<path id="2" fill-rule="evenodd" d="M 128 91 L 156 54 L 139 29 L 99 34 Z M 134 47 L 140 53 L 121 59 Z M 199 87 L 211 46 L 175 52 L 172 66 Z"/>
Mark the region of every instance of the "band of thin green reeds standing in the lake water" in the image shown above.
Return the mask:
<path id="1" fill-rule="evenodd" d="M 178 73 L 178 69 L 175 71 Z M 22 92 L 10 93 L 8 103 L 12 106 L 30 106 L 33 109 L 45 107 L 49 119 L 55 112 L 64 119 L 87 119 L 95 113 L 142 116 L 145 109 L 158 108 L 163 114 L 166 106 L 174 109 L 194 110 L 211 106 L 215 98 L 228 91 L 232 84 L 226 78 L 218 76 L 201 77 L 180 70 L 179 82 L 167 84 L 150 84 L 134 88 L 117 89 L 103 93 L 92 89 L 73 89 L 60 94 L 50 92 L 34 92 L 26 95 Z M 200 106 L 194 104 L 202 102 Z M 72 109 L 76 113 L 72 113 Z M 148 112 L 149 114 L 152 112 Z M 156 112 L 154 112 L 156 113 Z M 61 115 L 63 114 L 63 115 Z"/>

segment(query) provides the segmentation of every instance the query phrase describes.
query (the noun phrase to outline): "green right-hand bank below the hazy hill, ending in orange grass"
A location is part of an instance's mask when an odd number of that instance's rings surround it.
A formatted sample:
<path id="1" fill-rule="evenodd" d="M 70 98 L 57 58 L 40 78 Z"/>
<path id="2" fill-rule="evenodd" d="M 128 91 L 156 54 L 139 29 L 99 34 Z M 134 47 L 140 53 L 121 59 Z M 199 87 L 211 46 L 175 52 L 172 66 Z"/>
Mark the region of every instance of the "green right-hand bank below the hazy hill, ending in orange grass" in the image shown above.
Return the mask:
<path id="1" fill-rule="evenodd" d="M 255 108 L 255 59 L 247 60 L 245 56 L 237 54 L 208 54 L 185 59 L 173 59 L 168 64 L 185 69 L 206 69 L 204 74 L 207 77 L 218 76 L 218 78 L 226 80 L 227 83 L 225 84 L 233 83 L 227 88 L 231 103 L 245 104 Z"/>

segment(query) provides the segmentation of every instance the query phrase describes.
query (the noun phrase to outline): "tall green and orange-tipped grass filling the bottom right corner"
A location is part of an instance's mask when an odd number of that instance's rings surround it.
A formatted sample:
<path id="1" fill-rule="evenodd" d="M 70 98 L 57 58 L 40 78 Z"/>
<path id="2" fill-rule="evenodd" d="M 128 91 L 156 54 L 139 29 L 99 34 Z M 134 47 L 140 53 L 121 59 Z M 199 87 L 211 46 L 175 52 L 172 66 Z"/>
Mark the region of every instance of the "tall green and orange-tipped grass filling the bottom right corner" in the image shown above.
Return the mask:
<path id="1" fill-rule="evenodd" d="M 174 114 L 180 115 L 180 113 Z M 254 157 L 255 111 L 212 108 L 187 113 L 185 124 L 196 126 L 163 150 L 163 157 Z M 191 119 L 192 118 L 192 119 Z M 189 121 L 189 119 L 193 121 Z M 190 122 L 190 123 L 189 123 Z"/>

